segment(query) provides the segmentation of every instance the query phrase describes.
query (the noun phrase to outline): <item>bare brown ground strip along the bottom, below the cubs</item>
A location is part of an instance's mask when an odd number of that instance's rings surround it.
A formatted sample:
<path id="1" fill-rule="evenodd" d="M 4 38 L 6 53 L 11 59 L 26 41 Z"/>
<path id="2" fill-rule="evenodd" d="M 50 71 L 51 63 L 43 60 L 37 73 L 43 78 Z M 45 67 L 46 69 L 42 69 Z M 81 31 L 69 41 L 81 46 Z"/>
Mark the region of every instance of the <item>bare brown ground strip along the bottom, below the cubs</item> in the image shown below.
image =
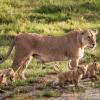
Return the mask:
<path id="1" fill-rule="evenodd" d="M 18 86 L 14 89 L 0 91 L 0 100 L 99 100 L 100 89 L 93 88 L 90 81 L 80 82 L 80 87 L 65 86 L 53 88 L 47 85 L 55 80 L 56 75 L 46 75 L 39 83 Z"/>

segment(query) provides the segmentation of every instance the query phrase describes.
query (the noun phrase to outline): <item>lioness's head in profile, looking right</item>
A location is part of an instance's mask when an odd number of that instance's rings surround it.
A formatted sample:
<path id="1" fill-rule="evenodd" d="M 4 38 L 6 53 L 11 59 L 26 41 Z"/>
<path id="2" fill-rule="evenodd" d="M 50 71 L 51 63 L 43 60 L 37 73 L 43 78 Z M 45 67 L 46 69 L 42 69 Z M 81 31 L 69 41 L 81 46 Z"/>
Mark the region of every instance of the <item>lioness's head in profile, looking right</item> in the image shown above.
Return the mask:
<path id="1" fill-rule="evenodd" d="M 84 47 L 95 48 L 96 47 L 96 30 L 86 29 L 81 30 L 81 44 Z"/>

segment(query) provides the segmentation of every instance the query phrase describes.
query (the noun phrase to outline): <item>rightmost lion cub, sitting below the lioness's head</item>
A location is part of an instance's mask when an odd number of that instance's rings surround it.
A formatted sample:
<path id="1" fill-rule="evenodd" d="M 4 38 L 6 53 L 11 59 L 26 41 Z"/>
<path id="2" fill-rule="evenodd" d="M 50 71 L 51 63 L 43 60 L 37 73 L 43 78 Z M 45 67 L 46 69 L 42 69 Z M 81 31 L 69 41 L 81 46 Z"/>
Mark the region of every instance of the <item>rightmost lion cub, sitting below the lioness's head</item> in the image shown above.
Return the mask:
<path id="1" fill-rule="evenodd" d="M 82 79 L 85 78 L 90 78 L 92 81 L 93 79 L 98 80 L 99 78 L 97 77 L 97 71 L 100 70 L 100 64 L 97 62 L 94 62 L 93 64 L 89 64 L 87 68 L 87 72 L 85 75 L 83 75 Z"/>

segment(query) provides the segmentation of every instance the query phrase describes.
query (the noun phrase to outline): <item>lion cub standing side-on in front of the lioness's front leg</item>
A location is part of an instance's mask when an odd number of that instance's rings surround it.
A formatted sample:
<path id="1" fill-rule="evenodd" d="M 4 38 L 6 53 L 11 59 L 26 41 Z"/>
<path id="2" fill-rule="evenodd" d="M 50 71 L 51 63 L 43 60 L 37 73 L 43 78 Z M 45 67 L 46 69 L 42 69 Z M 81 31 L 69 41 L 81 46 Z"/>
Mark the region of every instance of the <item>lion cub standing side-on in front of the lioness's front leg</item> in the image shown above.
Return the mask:
<path id="1" fill-rule="evenodd" d="M 75 70 L 68 72 L 61 72 L 57 70 L 57 67 L 54 67 L 55 71 L 58 73 L 56 81 L 53 82 L 53 86 L 59 85 L 62 87 L 65 83 L 71 83 L 75 86 L 78 86 L 79 81 L 86 74 L 87 66 L 80 65 Z"/>

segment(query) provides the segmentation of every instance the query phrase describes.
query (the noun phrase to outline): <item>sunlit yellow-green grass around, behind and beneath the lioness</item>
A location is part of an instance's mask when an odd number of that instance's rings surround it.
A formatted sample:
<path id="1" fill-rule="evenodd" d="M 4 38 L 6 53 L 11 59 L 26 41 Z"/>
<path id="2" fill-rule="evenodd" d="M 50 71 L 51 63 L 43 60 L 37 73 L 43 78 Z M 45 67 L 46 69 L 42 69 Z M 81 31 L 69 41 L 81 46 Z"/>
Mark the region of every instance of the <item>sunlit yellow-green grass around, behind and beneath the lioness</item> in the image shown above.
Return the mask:
<path id="1" fill-rule="evenodd" d="M 98 30 L 97 48 L 95 51 L 86 50 L 82 63 L 90 63 L 94 60 L 99 62 L 99 0 L 0 0 L 0 58 L 5 56 L 11 41 L 18 34 L 36 32 L 37 34 L 56 36 L 79 28 Z M 0 69 L 11 66 L 13 54 L 14 52 L 5 63 L 0 64 Z M 65 62 L 60 62 L 60 65 L 66 69 Z M 26 81 L 17 79 L 14 83 L 10 83 L 10 86 L 38 83 L 41 77 L 53 72 L 52 66 L 37 64 L 33 60 L 26 71 L 28 79 Z M 9 86 L 4 87 L 8 88 Z M 39 93 L 38 96 L 44 96 L 45 93 Z M 48 94 L 51 96 L 52 92 Z"/>

